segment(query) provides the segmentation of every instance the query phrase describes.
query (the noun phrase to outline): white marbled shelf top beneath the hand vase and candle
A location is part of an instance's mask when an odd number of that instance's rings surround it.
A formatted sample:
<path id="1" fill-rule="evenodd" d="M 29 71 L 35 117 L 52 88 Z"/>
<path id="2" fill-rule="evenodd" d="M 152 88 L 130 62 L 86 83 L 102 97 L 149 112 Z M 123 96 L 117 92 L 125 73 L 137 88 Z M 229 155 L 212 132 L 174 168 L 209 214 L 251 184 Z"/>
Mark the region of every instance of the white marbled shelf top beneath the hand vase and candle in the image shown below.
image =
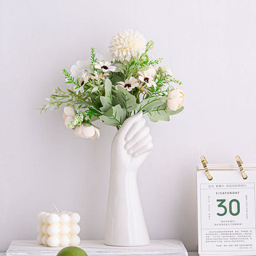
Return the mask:
<path id="1" fill-rule="evenodd" d="M 106 246 L 103 241 L 84 240 L 79 247 L 88 256 L 188 256 L 182 241 L 165 239 L 151 240 L 148 246 L 116 247 Z M 36 241 L 12 241 L 6 252 L 7 256 L 56 256 L 62 247 L 40 246 Z M 198 256 L 197 254 L 189 254 Z M 0 255 L 2 256 L 2 255 Z"/>

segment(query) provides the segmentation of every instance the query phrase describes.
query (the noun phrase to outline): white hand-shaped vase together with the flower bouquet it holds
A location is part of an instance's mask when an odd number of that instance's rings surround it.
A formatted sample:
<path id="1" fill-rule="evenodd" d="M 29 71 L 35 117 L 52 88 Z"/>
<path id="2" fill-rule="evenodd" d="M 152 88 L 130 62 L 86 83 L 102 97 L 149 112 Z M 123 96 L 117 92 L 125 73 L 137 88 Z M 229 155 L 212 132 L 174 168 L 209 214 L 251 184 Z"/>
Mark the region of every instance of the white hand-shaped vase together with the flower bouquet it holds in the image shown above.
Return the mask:
<path id="1" fill-rule="evenodd" d="M 78 60 L 70 73 L 63 69 L 70 88 L 55 88 L 40 108 L 65 105 L 65 126 L 81 138 L 100 136 L 93 123 L 97 119 L 118 129 L 111 145 L 106 211 L 105 243 L 110 246 L 150 242 L 137 189 L 137 171 L 153 148 L 142 115 L 152 122 L 169 121 L 183 110 L 184 94 L 173 86 L 182 82 L 159 65 L 162 58 L 150 58 L 153 46 L 138 32 L 119 31 L 111 39 L 109 56 L 100 57 L 92 48 L 89 60 Z"/>

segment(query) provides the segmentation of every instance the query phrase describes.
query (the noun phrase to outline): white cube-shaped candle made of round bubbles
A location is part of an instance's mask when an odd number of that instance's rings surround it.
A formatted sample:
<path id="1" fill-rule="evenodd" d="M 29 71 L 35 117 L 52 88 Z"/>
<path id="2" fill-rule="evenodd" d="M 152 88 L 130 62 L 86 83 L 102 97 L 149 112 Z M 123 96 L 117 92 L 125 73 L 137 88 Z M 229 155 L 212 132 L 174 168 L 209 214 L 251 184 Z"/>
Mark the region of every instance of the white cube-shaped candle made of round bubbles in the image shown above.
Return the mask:
<path id="1" fill-rule="evenodd" d="M 80 215 L 76 212 L 39 212 L 38 242 L 44 246 L 78 246 Z"/>

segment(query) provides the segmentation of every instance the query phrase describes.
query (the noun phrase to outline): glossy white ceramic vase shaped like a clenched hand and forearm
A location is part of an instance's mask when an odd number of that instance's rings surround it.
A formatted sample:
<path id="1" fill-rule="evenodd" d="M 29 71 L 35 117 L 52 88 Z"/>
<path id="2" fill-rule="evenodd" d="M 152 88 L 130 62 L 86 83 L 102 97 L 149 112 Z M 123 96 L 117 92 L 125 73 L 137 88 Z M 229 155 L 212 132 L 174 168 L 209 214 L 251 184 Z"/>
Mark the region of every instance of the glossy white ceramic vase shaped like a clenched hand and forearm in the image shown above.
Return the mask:
<path id="1" fill-rule="evenodd" d="M 105 244 L 150 244 L 137 188 L 137 172 L 153 148 L 142 113 L 127 118 L 111 145 L 110 188 L 106 211 Z"/>

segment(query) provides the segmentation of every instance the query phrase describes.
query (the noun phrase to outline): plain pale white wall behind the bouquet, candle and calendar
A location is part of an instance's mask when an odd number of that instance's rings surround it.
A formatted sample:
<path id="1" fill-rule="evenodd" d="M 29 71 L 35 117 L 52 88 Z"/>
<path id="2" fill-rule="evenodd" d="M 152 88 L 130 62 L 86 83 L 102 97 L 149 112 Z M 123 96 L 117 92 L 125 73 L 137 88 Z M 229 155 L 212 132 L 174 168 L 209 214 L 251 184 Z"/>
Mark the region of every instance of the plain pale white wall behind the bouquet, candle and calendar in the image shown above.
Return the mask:
<path id="1" fill-rule="evenodd" d="M 82 239 L 102 239 L 110 143 L 74 137 L 62 110 L 39 114 L 62 68 L 108 51 L 118 30 L 156 42 L 183 81 L 185 110 L 151 123 L 154 150 L 138 174 L 151 238 L 197 250 L 196 164 L 255 163 L 256 1 L 1 1 L 0 251 L 36 238 L 39 211 L 79 212 Z"/>

